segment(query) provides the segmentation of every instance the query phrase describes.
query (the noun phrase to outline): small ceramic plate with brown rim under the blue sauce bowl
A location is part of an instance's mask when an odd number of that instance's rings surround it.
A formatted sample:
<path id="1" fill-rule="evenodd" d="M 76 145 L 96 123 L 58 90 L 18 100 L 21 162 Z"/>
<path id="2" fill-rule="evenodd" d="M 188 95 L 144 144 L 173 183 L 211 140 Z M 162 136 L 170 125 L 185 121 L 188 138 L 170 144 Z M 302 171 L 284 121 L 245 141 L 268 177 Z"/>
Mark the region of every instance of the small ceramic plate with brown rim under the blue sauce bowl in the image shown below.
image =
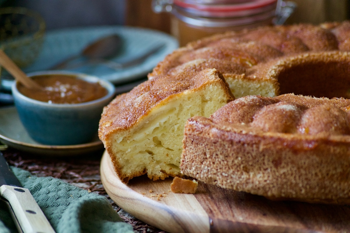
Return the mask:
<path id="1" fill-rule="evenodd" d="M 103 148 L 97 134 L 90 143 L 79 145 L 50 146 L 35 142 L 23 127 L 15 107 L 0 108 L 0 142 L 28 153 L 47 156 L 87 154 Z"/>

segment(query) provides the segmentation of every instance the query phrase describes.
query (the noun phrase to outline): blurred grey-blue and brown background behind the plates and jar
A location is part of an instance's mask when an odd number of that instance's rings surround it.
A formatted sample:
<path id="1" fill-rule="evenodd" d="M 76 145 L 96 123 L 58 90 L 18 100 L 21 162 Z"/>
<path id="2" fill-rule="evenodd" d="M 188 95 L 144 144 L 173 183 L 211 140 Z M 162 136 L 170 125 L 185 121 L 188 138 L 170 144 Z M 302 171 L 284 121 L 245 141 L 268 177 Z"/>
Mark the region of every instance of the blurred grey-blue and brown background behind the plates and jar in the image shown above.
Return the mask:
<path id="1" fill-rule="evenodd" d="M 350 0 L 293 0 L 297 8 L 287 20 L 318 24 L 350 19 Z M 47 30 L 97 25 L 128 25 L 170 33 L 169 13 L 154 13 L 152 0 L 0 0 L 0 7 L 22 6 L 40 13 Z"/>

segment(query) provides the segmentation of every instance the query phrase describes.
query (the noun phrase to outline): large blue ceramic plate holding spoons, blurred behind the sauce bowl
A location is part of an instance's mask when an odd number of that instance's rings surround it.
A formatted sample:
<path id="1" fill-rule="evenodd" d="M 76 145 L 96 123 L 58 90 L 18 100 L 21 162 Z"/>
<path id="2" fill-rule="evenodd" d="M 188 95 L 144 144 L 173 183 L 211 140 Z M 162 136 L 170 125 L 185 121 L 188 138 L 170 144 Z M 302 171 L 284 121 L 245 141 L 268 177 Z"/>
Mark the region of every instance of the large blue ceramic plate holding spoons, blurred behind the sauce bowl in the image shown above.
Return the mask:
<path id="1" fill-rule="evenodd" d="M 179 47 L 174 37 L 151 29 L 125 26 L 60 29 L 46 33 L 38 58 L 23 70 L 26 73 L 47 70 L 65 58 L 79 54 L 92 41 L 110 34 L 118 34 L 123 41 L 119 53 L 112 59 L 116 63 L 130 61 L 144 55 L 160 44 L 163 46 L 142 63 L 125 69 L 115 70 L 106 65 L 87 65 L 69 70 L 96 75 L 114 84 L 131 82 L 145 77 L 167 54 Z M 2 88 L 10 90 L 12 77 L 9 78 L 6 72 L 2 72 L 1 78 Z"/>

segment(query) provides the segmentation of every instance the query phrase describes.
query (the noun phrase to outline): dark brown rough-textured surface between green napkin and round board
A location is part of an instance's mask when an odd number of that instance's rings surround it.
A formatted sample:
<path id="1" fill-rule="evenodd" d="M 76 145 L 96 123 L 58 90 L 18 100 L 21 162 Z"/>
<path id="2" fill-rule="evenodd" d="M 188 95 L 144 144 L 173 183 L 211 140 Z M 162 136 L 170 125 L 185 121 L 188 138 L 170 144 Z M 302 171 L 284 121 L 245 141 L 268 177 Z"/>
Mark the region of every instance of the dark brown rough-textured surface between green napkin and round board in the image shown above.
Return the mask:
<path id="1" fill-rule="evenodd" d="M 90 190 L 91 192 L 107 197 L 113 209 L 133 226 L 138 233 L 165 233 L 158 228 L 152 227 L 121 209 L 108 196 L 103 188 L 100 178 L 100 160 L 103 150 L 96 151 L 90 155 L 80 155 L 74 157 L 45 157 L 8 148 L 2 151 L 9 165 L 31 172 L 33 175 L 43 177 L 52 176 L 75 185 L 79 188 Z"/>

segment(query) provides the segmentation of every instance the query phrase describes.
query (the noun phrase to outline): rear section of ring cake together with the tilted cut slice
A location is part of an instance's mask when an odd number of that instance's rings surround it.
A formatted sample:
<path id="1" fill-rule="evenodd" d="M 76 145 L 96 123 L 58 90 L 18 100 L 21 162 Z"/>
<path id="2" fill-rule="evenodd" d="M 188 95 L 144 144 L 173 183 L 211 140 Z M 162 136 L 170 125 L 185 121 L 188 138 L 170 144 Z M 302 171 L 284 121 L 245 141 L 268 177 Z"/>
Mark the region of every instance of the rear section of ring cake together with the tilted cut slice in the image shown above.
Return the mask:
<path id="1" fill-rule="evenodd" d="M 187 119 L 208 118 L 235 98 L 287 93 L 348 98 L 348 39 L 345 21 L 227 32 L 176 49 L 149 80 L 103 111 L 99 137 L 116 173 L 125 183 L 143 174 L 153 180 L 182 176 Z"/>

